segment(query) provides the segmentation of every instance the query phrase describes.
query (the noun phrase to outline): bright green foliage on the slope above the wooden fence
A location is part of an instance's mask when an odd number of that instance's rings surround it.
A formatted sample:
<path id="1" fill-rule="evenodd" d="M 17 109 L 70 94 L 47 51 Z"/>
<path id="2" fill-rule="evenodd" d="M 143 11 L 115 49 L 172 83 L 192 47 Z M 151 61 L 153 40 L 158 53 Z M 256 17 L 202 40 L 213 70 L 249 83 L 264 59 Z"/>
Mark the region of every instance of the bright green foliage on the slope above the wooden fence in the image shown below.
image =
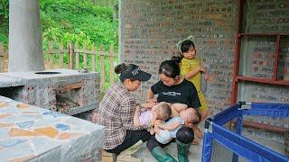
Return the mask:
<path id="1" fill-rule="evenodd" d="M 41 22 L 43 47 L 49 41 L 59 41 L 65 46 L 68 42 L 86 42 L 105 45 L 117 49 L 117 24 L 112 20 L 112 8 L 98 6 L 89 0 L 41 0 Z M 9 1 L 0 0 L 0 42 L 8 43 Z"/>

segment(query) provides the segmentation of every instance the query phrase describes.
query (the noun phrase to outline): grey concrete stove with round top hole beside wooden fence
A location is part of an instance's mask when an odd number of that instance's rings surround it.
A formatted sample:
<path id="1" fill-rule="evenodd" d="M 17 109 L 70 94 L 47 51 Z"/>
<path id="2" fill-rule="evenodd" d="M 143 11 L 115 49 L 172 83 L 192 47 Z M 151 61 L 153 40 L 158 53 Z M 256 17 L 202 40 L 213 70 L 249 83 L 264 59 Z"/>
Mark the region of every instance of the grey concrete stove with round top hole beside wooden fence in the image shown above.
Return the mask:
<path id="1" fill-rule="evenodd" d="M 69 115 L 98 107 L 99 74 L 70 69 L 0 73 L 0 95 Z"/>

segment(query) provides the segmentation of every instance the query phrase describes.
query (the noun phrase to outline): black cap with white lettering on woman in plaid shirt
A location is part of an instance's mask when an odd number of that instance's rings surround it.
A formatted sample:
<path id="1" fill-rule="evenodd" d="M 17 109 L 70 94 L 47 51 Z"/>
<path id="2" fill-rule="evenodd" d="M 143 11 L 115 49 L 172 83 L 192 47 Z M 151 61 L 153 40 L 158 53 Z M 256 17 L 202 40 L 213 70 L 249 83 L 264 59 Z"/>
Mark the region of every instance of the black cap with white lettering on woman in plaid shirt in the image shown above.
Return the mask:
<path id="1" fill-rule="evenodd" d="M 126 69 L 126 71 L 122 72 L 119 76 L 121 80 L 129 78 L 129 79 L 137 79 L 140 81 L 148 81 L 151 78 L 151 74 L 144 72 L 140 67 L 135 64 L 131 64 L 132 67 Z"/>

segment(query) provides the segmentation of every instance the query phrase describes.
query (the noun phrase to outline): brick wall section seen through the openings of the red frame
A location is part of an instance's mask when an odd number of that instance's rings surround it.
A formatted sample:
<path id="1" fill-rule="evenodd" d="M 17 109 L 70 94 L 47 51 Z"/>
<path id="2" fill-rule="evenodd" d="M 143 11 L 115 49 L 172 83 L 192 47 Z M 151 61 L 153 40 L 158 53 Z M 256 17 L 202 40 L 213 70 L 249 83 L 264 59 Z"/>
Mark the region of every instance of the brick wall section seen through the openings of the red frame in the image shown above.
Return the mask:
<path id="1" fill-rule="evenodd" d="M 246 1 L 244 6 L 243 32 L 288 34 L 288 1 Z M 241 43 L 240 74 L 272 78 L 275 64 L 275 45 L 276 36 L 245 37 Z M 281 37 L 277 71 L 279 80 L 289 80 L 289 36 Z M 243 82 L 239 84 L 238 89 L 238 100 L 289 103 L 288 86 Z"/>

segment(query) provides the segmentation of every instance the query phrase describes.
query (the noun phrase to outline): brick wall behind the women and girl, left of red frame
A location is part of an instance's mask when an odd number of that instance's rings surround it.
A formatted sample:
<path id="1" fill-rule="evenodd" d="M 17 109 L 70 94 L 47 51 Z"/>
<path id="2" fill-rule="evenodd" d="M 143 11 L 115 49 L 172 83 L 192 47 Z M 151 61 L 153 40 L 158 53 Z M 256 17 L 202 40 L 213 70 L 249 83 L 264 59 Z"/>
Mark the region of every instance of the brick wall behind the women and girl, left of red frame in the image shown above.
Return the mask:
<path id="1" fill-rule="evenodd" d="M 178 40 L 193 35 L 197 56 L 212 65 L 208 91 L 210 108 L 230 103 L 237 1 L 130 0 L 120 4 L 120 57 L 153 74 L 136 93 L 144 101 L 157 80 L 164 59 L 178 55 Z"/>

